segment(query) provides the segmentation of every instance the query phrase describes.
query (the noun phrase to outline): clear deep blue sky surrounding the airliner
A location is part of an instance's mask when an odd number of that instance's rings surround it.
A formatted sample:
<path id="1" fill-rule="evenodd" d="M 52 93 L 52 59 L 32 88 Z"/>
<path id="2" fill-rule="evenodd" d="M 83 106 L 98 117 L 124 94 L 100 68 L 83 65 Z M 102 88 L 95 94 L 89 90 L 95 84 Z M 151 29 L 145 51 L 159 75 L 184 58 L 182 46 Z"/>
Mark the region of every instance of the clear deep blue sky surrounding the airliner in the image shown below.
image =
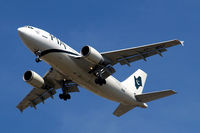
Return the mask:
<path id="1" fill-rule="evenodd" d="M 198 132 L 200 1 L 198 0 L 63 0 L 0 1 L 1 96 L 0 131 L 4 133 L 121 133 Z M 91 45 L 98 51 L 135 47 L 180 39 L 185 46 L 168 49 L 131 67 L 116 65 L 120 81 L 138 68 L 148 73 L 144 92 L 174 89 L 177 95 L 148 103 L 120 118 L 112 115 L 118 103 L 80 88 L 70 101 L 48 99 L 38 110 L 21 114 L 16 105 L 31 90 L 22 75 L 43 75 L 49 65 L 35 63 L 17 28 L 44 29 L 77 51 Z"/>

